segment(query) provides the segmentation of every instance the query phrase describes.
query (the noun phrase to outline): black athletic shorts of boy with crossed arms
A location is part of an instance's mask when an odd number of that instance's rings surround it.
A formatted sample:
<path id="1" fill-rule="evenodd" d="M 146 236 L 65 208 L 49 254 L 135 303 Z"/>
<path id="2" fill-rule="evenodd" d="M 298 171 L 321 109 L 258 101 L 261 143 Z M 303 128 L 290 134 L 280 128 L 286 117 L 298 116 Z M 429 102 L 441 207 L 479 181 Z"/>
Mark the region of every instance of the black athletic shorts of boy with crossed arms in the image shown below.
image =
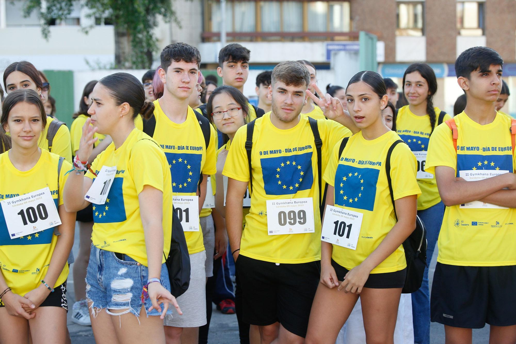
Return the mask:
<path id="1" fill-rule="evenodd" d="M 516 266 L 437 263 L 430 297 L 431 320 L 481 329 L 516 325 Z"/>

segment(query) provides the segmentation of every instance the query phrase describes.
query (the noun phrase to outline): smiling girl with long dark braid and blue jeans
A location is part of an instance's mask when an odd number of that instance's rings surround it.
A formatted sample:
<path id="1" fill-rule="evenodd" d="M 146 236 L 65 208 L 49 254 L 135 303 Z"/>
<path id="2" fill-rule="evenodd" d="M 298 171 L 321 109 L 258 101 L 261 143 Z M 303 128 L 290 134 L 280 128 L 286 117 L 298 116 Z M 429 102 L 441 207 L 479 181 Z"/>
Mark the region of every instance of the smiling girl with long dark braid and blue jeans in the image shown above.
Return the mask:
<path id="1" fill-rule="evenodd" d="M 444 216 L 444 204 L 437 190 L 436 177 L 425 172 L 426 152 L 433 130 L 439 118 L 446 121 L 451 117 L 433 105 L 437 92 L 436 74 L 425 63 L 413 63 L 403 75 L 403 90 L 409 105 L 398 109 L 396 130 L 414 152 L 417 158 L 417 184 L 422 191 L 417 199 L 417 215 L 427 229 L 427 266 L 430 266 L 433 250 Z M 414 341 L 428 343 L 430 337 L 430 294 L 428 289 L 428 268 L 425 268 L 421 288 L 412 294 L 412 317 Z"/>

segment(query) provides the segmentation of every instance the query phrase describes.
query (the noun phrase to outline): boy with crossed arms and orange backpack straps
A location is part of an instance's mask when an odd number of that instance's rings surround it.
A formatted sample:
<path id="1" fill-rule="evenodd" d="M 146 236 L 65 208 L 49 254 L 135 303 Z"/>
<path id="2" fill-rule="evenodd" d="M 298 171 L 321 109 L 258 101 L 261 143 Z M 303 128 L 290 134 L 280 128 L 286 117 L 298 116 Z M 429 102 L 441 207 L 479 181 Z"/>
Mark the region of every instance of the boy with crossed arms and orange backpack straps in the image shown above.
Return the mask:
<path id="1" fill-rule="evenodd" d="M 430 313 L 447 343 L 471 343 L 471 329 L 486 323 L 490 343 L 516 342 L 514 136 L 511 119 L 494 108 L 502 65 L 488 47 L 460 54 L 455 72 L 466 107 L 429 142 L 426 171 L 446 205 Z"/>

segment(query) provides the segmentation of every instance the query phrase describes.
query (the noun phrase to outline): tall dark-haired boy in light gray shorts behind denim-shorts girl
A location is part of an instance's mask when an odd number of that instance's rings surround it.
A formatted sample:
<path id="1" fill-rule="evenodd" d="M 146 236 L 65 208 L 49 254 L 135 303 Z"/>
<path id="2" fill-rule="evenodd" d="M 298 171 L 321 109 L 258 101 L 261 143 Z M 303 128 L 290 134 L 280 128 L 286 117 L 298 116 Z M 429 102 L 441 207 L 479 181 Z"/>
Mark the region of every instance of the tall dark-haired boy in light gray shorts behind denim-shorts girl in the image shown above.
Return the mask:
<path id="1" fill-rule="evenodd" d="M 174 311 L 172 316 L 165 317 L 168 344 L 198 343 L 199 326 L 206 324 L 206 277 L 213 270 L 213 256 L 208 257 L 210 264 L 205 265 L 206 251 L 202 226 L 199 224 L 199 211 L 206 196 L 207 177 L 216 172 L 216 133 L 213 126 L 207 123 L 209 143 L 206 147 L 201 121 L 188 106 L 191 93 L 197 92 L 200 63 L 201 55 L 197 48 L 186 43 L 173 43 L 163 49 L 161 68 L 157 73 L 164 85 L 164 93 L 160 99 L 154 101 L 154 132 L 149 129 L 152 127 L 149 124 L 151 121 L 143 123 L 143 132 L 153 134 L 151 136 L 167 156 L 172 173 L 174 199 L 176 196 L 193 196 L 187 205 L 174 202 L 176 208 L 182 209 L 183 221 L 190 222 L 188 226 L 185 226 L 186 222 L 183 223 L 183 228 L 190 255 L 191 273 L 188 290 L 178 297 L 183 315 Z M 199 186 L 201 173 L 202 182 Z"/>

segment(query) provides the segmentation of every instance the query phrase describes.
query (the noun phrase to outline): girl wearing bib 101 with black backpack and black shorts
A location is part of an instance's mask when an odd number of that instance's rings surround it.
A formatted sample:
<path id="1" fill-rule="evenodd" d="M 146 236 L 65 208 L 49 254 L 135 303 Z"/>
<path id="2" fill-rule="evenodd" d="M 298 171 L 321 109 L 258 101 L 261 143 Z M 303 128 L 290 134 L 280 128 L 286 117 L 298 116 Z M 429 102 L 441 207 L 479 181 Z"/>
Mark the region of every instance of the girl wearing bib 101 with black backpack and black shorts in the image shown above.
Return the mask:
<path id="1" fill-rule="evenodd" d="M 393 150 L 390 175 L 396 221 L 385 161 L 399 136 L 382 119 L 381 111 L 388 102 L 383 79 L 370 71 L 354 75 L 346 88 L 346 101 L 353 122 L 361 130 L 349 138 L 340 156 L 342 141 L 335 146 L 324 175 L 328 183 L 326 204 L 362 221 L 348 221 L 352 226 L 347 228 L 354 231 L 350 236 L 355 238 L 350 241 L 354 250 L 348 245 L 321 242 L 321 284 L 312 305 L 306 342 L 335 342 L 360 296 L 367 341 L 393 343 L 406 277 L 401 244 L 414 230 L 416 199 L 421 193 L 415 177 L 416 160 L 404 143 Z M 361 163 L 364 161 L 366 165 Z"/>

